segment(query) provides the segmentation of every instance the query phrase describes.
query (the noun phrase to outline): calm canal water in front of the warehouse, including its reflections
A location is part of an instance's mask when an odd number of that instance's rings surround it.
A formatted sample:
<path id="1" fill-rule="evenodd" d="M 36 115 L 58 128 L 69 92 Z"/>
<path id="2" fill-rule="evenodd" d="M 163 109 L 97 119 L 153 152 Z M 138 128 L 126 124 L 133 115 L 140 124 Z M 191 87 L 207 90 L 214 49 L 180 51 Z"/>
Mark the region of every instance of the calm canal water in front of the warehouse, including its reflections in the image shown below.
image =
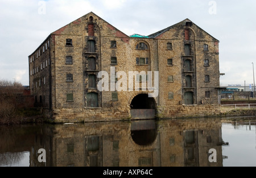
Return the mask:
<path id="1" fill-rule="evenodd" d="M 255 118 L 0 126 L 1 167 L 256 166 Z"/>

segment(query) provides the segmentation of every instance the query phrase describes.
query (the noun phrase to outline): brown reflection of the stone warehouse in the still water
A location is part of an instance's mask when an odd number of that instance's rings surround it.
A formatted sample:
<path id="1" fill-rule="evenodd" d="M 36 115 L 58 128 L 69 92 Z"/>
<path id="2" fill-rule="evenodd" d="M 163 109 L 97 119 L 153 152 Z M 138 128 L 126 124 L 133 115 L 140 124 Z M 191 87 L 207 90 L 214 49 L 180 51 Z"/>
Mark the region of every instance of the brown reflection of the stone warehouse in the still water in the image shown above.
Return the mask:
<path id="1" fill-rule="evenodd" d="M 47 166 L 222 166 L 219 119 L 99 122 L 43 131 L 34 150 L 47 150 Z M 211 148 L 217 163 L 208 160 Z M 36 156 L 31 152 L 31 166 L 44 166 Z"/>

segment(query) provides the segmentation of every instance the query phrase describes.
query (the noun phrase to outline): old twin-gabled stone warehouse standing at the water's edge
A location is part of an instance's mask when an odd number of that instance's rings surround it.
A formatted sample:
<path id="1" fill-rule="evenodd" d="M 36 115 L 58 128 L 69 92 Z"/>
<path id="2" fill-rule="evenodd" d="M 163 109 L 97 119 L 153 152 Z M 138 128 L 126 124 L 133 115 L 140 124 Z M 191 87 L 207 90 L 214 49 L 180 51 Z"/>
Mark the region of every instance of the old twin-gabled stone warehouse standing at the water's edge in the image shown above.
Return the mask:
<path id="1" fill-rule="evenodd" d="M 28 56 L 31 94 L 53 122 L 216 115 L 218 43 L 189 19 L 148 36 L 127 36 L 91 12 L 52 32 Z M 113 70 L 127 77 L 113 78 Z M 131 76 L 132 86 L 129 71 L 141 72 Z M 144 84 L 151 78 L 142 71 L 152 72 L 155 97 L 148 97 L 152 90 Z M 103 79 L 109 85 L 99 90 Z M 113 88 L 117 84 L 123 90 Z"/>

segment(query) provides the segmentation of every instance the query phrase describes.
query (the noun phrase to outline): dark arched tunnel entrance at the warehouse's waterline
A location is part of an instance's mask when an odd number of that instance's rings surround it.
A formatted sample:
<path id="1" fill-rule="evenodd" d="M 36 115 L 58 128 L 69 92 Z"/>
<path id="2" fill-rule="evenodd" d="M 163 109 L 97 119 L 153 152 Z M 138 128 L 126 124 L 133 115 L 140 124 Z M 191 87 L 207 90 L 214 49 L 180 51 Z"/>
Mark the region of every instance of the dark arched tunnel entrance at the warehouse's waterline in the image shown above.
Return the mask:
<path id="1" fill-rule="evenodd" d="M 131 101 L 131 119 L 154 119 L 155 100 L 148 94 L 138 94 Z"/>

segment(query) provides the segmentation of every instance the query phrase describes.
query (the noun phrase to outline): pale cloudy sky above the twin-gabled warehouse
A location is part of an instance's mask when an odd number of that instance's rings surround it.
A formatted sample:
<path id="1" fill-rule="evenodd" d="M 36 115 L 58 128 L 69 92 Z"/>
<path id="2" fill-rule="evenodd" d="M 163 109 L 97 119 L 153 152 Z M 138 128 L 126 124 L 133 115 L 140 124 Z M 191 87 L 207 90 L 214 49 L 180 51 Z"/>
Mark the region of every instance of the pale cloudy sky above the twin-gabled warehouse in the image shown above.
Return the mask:
<path id="1" fill-rule="evenodd" d="M 254 84 L 254 0 L 0 0 L 0 80 L 29 85 L 28 56 L 51 32 L 90 13 L 126 35 L 186 18 L 220 41 L 220 86 Z M 255 78 L 256 79 L 256 78 Z"/>

